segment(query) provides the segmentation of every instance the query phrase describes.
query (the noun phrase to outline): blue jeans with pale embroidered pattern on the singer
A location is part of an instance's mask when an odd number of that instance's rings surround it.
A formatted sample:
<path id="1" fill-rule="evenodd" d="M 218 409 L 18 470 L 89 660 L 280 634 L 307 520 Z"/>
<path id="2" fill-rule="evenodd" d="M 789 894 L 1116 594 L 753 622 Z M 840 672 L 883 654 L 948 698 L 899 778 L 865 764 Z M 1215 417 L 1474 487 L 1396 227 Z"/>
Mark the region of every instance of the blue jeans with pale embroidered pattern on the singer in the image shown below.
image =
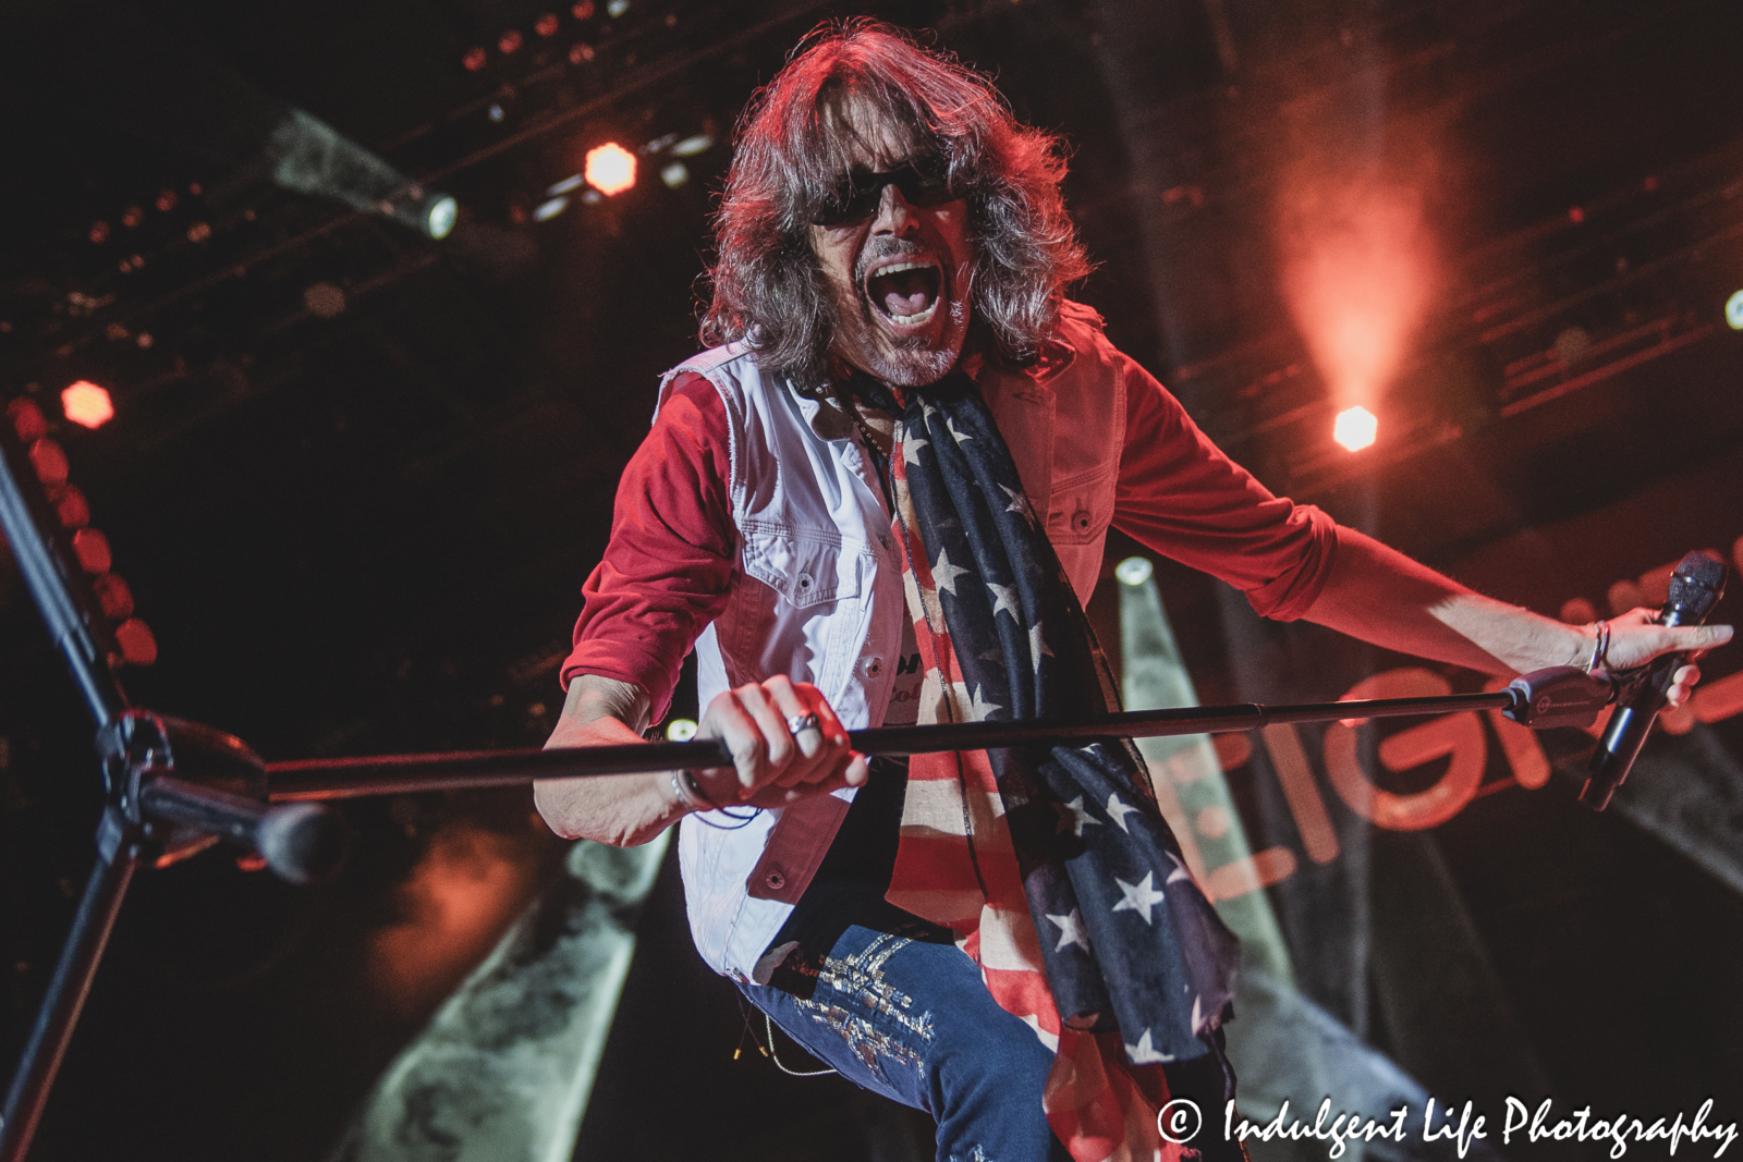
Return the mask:
<path id="1" fill-rule="evenodd" d="M 814 883 L 779 939 L 798 948 L 774 979 L 739 988 L 847 1080 L 931 1113 L 938 1162 L 1070 1162 L 1041 1111 L 1053 1054 L 948 929 L 875 885 Z"/>

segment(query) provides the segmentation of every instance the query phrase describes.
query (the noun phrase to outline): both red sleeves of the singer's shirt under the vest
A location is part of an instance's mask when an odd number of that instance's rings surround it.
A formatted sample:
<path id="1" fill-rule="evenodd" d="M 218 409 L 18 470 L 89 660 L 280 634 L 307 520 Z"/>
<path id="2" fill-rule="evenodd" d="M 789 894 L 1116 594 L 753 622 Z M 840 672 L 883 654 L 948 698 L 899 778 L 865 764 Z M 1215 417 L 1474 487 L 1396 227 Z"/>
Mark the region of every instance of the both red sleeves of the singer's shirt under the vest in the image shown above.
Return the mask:
<path id="1" fill-rule="evenodd" d="M 1126 361 L 1126 446 L 1114 526 L 1149 549 L 1243 591 L 1290 620 L 1318 598 L 1337 524 L 1274 497 L 1199 432 L 1180 402 Z M 725 610 L 736 563 L 727 409 L 713 385 L 680 375 L 617 486 L 612 540 L 582 587 L 563 683 L 600 674 L 671 702 L 697 634 Z"/>

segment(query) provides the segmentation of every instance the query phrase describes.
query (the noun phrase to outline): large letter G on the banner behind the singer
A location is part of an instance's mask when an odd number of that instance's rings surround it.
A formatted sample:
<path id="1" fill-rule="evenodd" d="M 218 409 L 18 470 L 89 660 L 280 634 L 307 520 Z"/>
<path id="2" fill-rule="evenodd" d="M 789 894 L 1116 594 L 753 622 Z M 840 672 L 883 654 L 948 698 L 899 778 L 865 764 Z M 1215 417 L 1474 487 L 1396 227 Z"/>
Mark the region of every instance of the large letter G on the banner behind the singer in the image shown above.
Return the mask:
<path id="1" fill-rule="evenodd" d="M 1349 688 L 1346 699 L 1422 699 L 1452 693 L 1452 685 L 1426 669 L 1389 669 Z M 1483 782 L 1489 742 L 1483 723 L 1473 711 L 1401 730 L 1380 740 L 1379 760 L 1389 772 L 1405 772 L 1438 758 L 1452 756 L 1434 786 L 1414 794 L 1377 787 L 1356 754 L 1354 726 L 1333 723 L 1325 732 L 1325 770 L 1339 796 L 1358 815 L 1387 831 L 1422 831 L 1438 828 L 1457 815 Z"/>

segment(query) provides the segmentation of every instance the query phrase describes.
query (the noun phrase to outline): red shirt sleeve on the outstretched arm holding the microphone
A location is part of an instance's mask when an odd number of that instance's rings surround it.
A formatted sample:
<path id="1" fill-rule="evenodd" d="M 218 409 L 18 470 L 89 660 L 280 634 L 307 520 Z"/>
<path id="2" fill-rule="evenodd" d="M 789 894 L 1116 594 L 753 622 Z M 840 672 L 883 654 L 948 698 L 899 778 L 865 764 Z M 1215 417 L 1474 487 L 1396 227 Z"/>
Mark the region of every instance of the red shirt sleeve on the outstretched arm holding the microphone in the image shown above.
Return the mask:
<path id="1" fill-rule="evenodd" d="M 1264 617 L 1293 620 L 1325 587 L 1337 523 L 1276 497 L 1210 443 L 1161 383 L 1126 355 L 1126 446 L 1114 526 L 1218 577 Z"/>

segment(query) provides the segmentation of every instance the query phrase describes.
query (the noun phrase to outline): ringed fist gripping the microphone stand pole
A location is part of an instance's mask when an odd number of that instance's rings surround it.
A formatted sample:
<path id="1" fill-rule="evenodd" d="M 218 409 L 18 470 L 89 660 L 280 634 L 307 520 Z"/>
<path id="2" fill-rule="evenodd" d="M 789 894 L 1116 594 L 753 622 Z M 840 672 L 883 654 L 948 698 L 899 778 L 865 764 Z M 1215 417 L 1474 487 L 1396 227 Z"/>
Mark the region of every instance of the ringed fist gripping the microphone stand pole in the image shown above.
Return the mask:
<path id="1" fill-rule="evenodd" d="M 816 726 L 791 733 L 807 714 Z M 865 754 L 849 747 L 847 730 L 810 683 L 777 674 L 715 697 L 697 737 L 720 739 L 732 767 L 690 772 L 697 789 L 718 807 L 786 807 L 870 777 Z"/>

